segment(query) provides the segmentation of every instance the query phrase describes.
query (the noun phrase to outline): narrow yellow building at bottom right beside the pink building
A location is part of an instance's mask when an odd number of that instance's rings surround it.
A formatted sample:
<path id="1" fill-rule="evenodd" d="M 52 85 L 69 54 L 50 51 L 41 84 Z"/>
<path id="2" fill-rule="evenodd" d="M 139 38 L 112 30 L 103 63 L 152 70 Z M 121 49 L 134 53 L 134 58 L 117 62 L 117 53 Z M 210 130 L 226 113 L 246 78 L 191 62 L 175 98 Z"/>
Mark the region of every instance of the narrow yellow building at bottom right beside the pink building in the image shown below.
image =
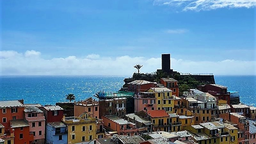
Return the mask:
<path id="1" fill-rule="evenodd" d="M 237 130 L 238 130 L 238 128 L 234 127 L 231 124 L 227 124 L 227 123 L 224 123 L 223 125 L 225 126 L 224 132 L 226 134 L 229 133 L 229 136 L 228 136 L 229 143 L 227 143 L 225 141 L 224 144 L 237 144 Z M 224 140 L 223 140 L 223 142 L 224 142 Z M 221 144 L 223 144 L 223 143 L 221 143 Z"/>

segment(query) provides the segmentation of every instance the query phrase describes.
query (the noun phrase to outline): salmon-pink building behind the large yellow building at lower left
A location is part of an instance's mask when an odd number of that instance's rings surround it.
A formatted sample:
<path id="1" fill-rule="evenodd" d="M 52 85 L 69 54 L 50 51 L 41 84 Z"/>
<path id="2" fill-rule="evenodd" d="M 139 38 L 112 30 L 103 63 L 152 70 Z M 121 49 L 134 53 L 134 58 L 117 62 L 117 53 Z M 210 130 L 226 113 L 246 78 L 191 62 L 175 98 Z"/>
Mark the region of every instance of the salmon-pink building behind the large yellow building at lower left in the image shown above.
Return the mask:
<path id="1" fill-rule="evenodd" d="M 91 117 L 99 118 L 99 102 L 92 99 L 92 97 L 75 102 L 74 115 L 80 116 L 84 112 L 87 112 Z"/>

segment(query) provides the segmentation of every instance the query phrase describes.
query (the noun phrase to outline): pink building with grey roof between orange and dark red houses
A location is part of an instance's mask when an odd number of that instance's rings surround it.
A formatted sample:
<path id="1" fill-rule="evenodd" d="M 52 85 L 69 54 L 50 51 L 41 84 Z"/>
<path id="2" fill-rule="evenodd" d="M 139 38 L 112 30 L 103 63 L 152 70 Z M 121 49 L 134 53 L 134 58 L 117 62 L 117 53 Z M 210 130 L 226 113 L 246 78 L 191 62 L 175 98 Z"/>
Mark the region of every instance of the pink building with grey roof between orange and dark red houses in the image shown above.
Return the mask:
<path id="1" fill-rule="evenodd" d="M 25 106 L 25 118 L 28 121 L 29 131 L 34 134 L 35 144 L 44 144 L 45 119 L 44 112 L 36 106 Z"/>

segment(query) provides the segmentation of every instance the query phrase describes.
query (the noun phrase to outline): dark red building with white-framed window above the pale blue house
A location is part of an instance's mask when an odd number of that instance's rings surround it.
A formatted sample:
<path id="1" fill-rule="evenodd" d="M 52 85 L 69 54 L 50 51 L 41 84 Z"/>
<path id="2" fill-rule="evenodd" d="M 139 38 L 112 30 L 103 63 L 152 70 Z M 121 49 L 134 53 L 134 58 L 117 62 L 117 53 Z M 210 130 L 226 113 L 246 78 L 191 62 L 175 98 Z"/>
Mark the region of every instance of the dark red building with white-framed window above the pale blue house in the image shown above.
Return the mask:
<path id="1" fill-rule="evenodd" d="M 40 108 L 44 111 L 45 120 L 47 123 L 60 122 L 63 118 L 63 108 L 60 106 L 49 106 Z"/>

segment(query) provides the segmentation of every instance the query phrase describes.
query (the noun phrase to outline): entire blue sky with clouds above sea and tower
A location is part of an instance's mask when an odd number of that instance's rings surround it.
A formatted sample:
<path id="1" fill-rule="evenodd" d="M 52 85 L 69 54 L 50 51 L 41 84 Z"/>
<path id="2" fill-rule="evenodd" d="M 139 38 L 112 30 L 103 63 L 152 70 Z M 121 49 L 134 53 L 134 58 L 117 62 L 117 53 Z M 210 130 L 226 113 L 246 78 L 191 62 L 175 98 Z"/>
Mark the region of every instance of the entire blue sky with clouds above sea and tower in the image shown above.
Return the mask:
<path id="1" fill-rule="evenodd" d="M 5 0 L 0 75 L 256 75 L 256 0 Z"/>

